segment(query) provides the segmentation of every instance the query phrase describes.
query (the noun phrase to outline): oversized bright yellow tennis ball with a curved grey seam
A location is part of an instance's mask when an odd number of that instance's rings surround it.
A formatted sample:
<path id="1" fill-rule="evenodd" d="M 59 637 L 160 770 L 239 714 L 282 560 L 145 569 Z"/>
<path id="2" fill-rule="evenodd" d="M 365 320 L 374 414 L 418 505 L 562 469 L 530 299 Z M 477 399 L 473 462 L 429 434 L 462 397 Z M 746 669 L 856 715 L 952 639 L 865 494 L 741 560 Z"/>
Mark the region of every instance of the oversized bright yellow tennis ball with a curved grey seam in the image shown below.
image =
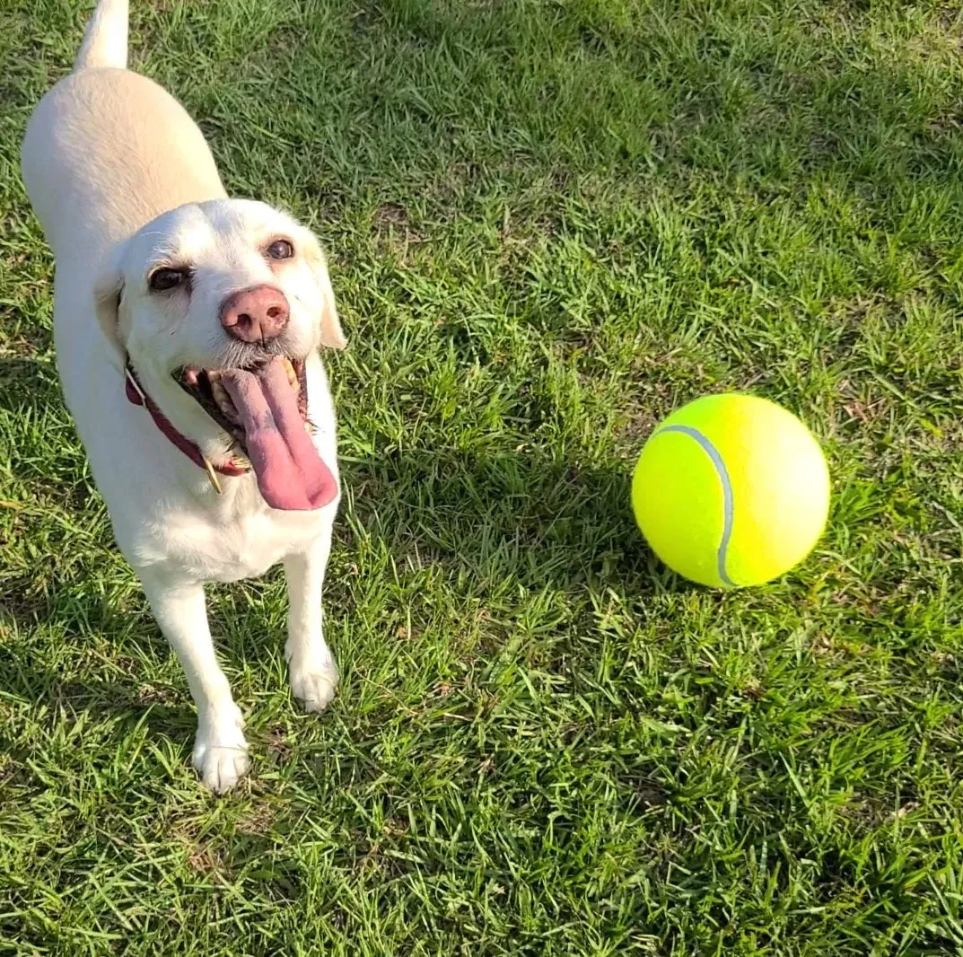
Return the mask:
<path id="1" fill-rule="evenodd" d="M 792 412 L 752 395 L 707 395 L 646 441 L 632 505 L 672 571 L 702 585 L 760 585 L 816 545 L 829 512 L 829 471 Z"/>

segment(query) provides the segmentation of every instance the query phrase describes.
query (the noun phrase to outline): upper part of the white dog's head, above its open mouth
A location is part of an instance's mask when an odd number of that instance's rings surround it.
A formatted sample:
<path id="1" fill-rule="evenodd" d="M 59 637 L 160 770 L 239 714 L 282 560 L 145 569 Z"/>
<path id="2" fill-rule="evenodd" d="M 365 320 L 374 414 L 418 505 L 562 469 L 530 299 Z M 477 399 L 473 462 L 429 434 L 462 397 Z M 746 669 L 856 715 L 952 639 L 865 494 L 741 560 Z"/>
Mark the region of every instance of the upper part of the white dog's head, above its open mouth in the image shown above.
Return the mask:
<path id="1" fill-rule="evenodd" d="M 170 375 L 191 365 L 245 367 L 345 345 L 321 246 L 266 203 L 180 206 L 143 226 L 112 258 L 94 290 L 97 318 L 137 368 Z M 228 315 L 232 298 L 236 305 L 251 290 L 263 291 L 263 301 L 255 296 L 251 318 L 239 323 Z M 272 310 L 270 328 L 261 329 L 257 313 Z"/>

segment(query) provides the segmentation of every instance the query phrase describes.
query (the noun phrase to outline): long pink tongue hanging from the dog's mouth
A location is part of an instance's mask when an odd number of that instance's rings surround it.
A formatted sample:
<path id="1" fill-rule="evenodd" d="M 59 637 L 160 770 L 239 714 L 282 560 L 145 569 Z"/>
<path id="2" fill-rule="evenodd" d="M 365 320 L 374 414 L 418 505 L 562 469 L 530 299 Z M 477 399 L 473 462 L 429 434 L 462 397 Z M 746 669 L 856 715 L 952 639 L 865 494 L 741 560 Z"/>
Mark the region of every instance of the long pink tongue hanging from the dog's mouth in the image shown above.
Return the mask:
<path id="1" fill-rule="evenodd" d="M 337 494 L 337 483 L 304 431 L 298 393 L 281 359 L 257 372 L 224 370 L 221 382 L 234 400 L 246 435 L 257 485 L 273 509 L 320 509 Z"/>

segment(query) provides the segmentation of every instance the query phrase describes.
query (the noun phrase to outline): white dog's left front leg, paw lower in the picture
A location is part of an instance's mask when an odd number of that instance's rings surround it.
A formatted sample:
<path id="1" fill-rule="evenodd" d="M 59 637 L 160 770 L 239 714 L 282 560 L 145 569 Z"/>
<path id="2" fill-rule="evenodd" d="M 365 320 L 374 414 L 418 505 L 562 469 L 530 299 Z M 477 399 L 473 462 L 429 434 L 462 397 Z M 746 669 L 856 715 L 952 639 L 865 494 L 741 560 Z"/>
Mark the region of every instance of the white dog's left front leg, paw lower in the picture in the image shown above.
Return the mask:
<path id="1" fill-rule="evenodd" d="M 207 625 L 204 586 L 199 582 L 171 582 L 160 575 L 142 574 L 143 591 L 176 652 L 197 705 L 194 766 L 201 780 L 221 794 L 247 773 L 244 719 L 230 685 L 221 671 Z"/>

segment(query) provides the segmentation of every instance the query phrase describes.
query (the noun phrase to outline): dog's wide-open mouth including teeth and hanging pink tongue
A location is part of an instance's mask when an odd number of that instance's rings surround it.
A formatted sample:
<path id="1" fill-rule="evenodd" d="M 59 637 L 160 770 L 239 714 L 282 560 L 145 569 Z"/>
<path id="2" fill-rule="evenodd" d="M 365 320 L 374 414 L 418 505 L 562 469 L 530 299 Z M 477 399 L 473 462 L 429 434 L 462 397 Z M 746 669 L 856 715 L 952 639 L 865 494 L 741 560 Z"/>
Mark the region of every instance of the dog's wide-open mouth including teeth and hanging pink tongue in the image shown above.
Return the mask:
<path id="1" fill-rule="evenodd" d="M 174 379 L 234 439 L 275 509 L 328 504 L 337 482 L 311 440 L 303 359 L 278 356 L 248 368 L 184 366 Z"/>

